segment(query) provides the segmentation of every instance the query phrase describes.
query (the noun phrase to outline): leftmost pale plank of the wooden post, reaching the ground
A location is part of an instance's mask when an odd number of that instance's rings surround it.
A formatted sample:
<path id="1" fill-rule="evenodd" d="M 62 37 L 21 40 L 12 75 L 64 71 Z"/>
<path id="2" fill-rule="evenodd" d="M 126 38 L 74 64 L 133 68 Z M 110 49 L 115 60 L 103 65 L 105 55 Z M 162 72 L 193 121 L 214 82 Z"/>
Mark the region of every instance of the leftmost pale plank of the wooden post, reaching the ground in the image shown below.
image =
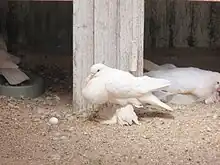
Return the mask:
<path id="1" fill-rule="evenodd" d="M 73 1 L 73 106 L 85 110 L 81 94 L 84 79 L 93 64 L 93 0 Z"/>

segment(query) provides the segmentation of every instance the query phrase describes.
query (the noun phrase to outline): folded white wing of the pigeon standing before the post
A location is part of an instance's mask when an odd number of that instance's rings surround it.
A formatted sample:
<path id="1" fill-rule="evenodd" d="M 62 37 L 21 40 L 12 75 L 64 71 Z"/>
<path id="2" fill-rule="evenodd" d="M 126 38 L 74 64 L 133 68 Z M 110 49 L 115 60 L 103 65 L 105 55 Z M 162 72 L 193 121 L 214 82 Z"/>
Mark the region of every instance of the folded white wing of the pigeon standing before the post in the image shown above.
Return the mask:
<path id="1" fill-rule="evenodd" d="M 121 77 L 109 79 L 106 90 L 117 98 L 137 98 L 144 94 L 162 89 L 170 85 L 168 80 L 156 79 L 147 76 L 126 79 Z"/>

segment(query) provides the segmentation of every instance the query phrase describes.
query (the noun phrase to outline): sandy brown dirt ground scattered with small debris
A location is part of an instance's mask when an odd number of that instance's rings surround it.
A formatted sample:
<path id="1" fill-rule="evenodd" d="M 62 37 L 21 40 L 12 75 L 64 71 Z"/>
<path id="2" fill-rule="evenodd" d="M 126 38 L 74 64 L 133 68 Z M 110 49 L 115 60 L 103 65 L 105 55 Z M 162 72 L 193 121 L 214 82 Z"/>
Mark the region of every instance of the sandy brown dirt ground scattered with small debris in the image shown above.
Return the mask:
<path id="1" fill-rule="evenodd" d="M 0 103 L 1 165 L 220 164 L 220 104 L 149 110 L 140 126 L 106 126 L 74 116 L 64 94 Z"/>

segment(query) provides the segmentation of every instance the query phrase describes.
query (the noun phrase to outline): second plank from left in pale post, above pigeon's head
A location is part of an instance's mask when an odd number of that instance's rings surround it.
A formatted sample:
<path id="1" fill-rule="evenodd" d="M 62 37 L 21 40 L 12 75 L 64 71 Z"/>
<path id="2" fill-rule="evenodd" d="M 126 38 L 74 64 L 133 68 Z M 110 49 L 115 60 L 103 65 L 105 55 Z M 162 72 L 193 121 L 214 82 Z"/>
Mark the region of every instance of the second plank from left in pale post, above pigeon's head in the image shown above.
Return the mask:
<path id="1" fill-rule="evenodd" d="M 117 64 L 117 0 L 95 1 L 95 53 L 94 62 Z"/>

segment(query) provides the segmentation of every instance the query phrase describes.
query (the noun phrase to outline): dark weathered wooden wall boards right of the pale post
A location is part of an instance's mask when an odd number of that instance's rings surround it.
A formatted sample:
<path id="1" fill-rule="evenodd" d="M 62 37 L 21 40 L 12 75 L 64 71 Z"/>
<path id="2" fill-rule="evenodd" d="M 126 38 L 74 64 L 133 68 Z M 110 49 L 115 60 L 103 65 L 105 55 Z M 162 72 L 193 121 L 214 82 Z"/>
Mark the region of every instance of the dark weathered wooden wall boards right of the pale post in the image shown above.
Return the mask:
<path id="1" fill-rule="evenodd" d="M 145 3 L 145 48 L 220 46 L 220 3 L 186 0 Z"/>

